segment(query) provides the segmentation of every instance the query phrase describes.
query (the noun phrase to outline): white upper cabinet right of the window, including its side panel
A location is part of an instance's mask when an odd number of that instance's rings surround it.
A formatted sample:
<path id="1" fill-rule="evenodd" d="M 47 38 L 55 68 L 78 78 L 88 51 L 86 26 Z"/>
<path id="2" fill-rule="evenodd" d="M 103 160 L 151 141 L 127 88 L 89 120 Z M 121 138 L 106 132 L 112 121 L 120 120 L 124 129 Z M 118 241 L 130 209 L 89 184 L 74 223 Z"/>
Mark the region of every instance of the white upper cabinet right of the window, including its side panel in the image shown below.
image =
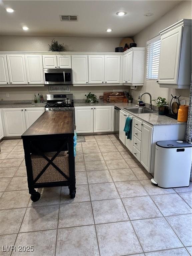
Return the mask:
<path id="1" fill-rule="evenodd" d="M 162 30 L 159 59 L 160 87 L 189 88 L 191 79 L 191 20 Z"/>

